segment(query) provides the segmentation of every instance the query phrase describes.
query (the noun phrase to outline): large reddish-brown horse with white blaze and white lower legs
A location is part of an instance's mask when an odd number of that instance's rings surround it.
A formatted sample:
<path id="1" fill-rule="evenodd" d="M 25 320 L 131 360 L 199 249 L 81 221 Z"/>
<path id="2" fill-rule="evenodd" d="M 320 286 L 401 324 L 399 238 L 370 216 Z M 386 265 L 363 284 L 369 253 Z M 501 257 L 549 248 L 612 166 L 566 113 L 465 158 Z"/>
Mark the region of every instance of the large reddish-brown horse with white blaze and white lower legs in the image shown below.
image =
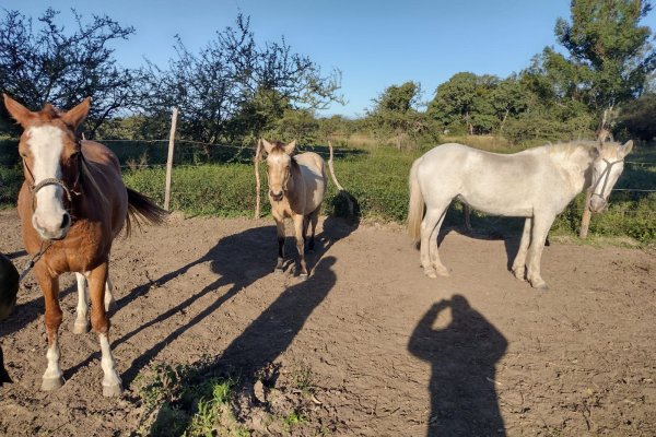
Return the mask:
<path id="1" fill-rule="evenodd" d="M 79 304 L 74 332 L 87 330 L 87 283 L 91 326 L 103 354 L 103 394 L 109 397 L 122 391 L 108 340 L 112 243 L 124 225 L 129 234 L 130 216 L 162 223 L 166 212 L 126 188 L 118 160 L 109 149 L 77 138 L 75 129 L 86 117 L 90 103 L 86 98 L 67 113 L 58 113 L 48 104 L 33 113 L 4 95 L 9 114 L 23 127 L 19 153 L 25 181 L 19 193 L 19 215 L 25 250 L 37 260 L 33 272 L 46 307 L 48 367 L 42 390 L 63 383 L 58 341 L 62 319 L 59 275 L 75 272 Z"/>

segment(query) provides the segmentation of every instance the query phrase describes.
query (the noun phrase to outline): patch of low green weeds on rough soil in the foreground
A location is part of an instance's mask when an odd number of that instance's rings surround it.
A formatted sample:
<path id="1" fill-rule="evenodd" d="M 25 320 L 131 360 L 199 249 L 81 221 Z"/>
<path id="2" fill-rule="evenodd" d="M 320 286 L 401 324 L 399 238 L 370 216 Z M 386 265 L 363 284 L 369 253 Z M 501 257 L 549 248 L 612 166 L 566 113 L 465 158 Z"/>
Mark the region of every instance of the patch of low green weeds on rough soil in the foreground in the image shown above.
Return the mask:
<path id="1" fill-rule="evenodd" d="M 315 387 L 309 367 L 292 364 L 288 378 L 279 373 L 280 365 L 238 377 L 226 376 L 216 366 L 206 358 L 185 366 L 155 365 L 142 373 L 136 381 L 143 405 L 136 434 L 332 435 L 333 424 L 313 417 Z"/>

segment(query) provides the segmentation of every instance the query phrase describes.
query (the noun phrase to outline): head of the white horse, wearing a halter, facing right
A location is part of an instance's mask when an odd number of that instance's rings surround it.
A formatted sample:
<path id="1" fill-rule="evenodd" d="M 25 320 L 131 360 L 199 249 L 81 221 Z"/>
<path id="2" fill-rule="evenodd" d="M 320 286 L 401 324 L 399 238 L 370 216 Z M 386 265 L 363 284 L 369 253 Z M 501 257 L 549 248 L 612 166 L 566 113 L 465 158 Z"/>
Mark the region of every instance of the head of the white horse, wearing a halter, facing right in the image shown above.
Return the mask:
<path id="1" fill-rule="evenodd" d="M 608 205 L 608 197 L 624 169 L 624 157 L 631 152 L 633 141 L 624 144 L 599 143 L 593 162 L 590 211 L 600 212 Z"/>

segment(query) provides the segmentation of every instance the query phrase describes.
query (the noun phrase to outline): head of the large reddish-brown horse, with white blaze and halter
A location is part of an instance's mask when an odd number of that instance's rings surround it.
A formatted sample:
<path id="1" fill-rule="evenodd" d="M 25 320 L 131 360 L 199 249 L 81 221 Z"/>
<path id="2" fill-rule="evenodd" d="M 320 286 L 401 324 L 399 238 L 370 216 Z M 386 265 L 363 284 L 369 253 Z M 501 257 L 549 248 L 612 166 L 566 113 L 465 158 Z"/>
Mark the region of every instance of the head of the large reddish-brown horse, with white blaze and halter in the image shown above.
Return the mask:
<path id="1" fill-rule="evenodd" d="M 44 240 L 62 239 L 70 229 L 71 215 L 65 204 L 70 206 L 82 160 L 75 129 L 90 104 L 87 97 L 67 113 L 50 104 L 33 113 L 4 95 L 7 110 L 23 127 L 19 153 L 32 191 L 32 226 Z"/>

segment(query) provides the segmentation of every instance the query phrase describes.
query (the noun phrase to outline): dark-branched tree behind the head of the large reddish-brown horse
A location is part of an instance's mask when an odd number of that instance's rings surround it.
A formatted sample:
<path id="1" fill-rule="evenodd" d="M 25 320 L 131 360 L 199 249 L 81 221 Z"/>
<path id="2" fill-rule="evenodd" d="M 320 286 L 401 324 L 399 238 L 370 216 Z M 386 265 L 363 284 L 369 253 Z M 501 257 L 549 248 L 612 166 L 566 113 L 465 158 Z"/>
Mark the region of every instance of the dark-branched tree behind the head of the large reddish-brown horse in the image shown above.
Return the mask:
<path id="1" fill-rule="evenodd" d="M 52 9 L 38 19 L 38 27 L 20 12 L 4 10 L 0 90 L 32 109 L 46 103 L 66 109 L 91 97 L 84 129 L 91 138 L 105 120 L 134 104 L 133 74 L 117 67 L 108 47 L 115 39 L 128 39 L 134 29 L 107 15 L 83 23 L 74 9 L 71 12 L 77 28 L 68 32 L 56 23 L 59 12 Z"/>

